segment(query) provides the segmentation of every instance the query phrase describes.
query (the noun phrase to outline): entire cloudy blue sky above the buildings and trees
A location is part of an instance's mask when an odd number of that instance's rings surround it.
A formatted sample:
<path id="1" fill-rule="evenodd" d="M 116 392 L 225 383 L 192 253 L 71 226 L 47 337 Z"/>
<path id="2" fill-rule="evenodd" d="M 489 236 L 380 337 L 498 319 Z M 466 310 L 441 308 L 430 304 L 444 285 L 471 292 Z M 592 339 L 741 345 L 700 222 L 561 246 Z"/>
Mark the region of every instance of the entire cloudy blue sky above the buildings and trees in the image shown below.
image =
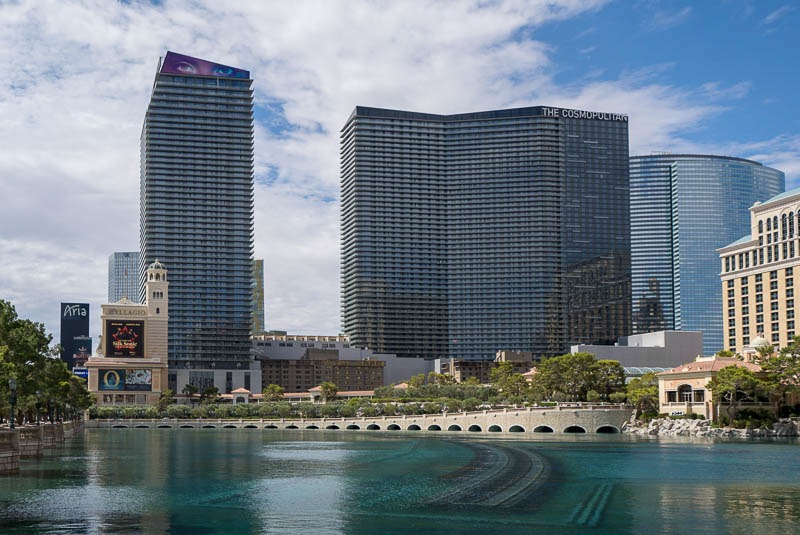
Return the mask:
<path id="1" fill-rule="evenodd" d="M 336 334 L 339 131 L 357 105 L 625 113 L 631 155 L 750 158 L 800 186 L 800 3 L 0 0 L 0 299 L 100 331 L 139 245 L 139 135 L 168 50 L 251 72 L 267 328 Z"/>

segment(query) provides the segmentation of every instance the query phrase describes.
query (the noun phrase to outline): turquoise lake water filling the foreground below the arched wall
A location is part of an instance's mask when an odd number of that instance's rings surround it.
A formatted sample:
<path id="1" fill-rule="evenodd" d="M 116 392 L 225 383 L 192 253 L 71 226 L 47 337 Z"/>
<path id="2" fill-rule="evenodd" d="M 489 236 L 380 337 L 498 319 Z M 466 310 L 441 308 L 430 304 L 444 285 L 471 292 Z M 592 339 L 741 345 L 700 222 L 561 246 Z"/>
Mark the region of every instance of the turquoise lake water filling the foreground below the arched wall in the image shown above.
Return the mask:
<path id="1" fill-rule="evenodd" d="M 800 533 L 800 444 L 87 430 L 0 478 L 0 533 Z"/>

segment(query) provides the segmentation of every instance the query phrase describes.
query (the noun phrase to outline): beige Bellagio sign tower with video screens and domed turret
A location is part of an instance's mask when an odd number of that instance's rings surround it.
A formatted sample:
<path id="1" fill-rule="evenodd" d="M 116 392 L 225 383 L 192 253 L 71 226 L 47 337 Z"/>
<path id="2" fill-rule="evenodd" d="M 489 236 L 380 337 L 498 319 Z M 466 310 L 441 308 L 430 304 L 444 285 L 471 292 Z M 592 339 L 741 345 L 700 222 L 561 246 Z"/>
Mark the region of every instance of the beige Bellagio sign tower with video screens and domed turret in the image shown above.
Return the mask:
<path id="1" fill-rule="evenodd" d="M 101 305 L 103 334 L 86 363 L 89 391 L 100 405 L 155 404 L 167 388 L 169 282 L 156 260 L 147 268 L 146 302 Z"/>

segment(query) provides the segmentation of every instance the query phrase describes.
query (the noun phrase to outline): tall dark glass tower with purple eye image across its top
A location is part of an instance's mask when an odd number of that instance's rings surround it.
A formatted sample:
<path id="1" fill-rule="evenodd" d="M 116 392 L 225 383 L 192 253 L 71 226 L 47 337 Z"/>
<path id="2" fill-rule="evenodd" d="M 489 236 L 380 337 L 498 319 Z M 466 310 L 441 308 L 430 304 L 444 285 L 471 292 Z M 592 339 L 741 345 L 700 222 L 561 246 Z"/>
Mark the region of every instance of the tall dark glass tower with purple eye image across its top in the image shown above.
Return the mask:
<path id="1" fill-rule="evenodd" d="M 170 388 L 230 392 L 251 362 L 253 92 L 245 70 L 167 52 L 141 138 L 139 273 L 170 270 Z M 144 302 L 143 295 L 140 301 Z"/>

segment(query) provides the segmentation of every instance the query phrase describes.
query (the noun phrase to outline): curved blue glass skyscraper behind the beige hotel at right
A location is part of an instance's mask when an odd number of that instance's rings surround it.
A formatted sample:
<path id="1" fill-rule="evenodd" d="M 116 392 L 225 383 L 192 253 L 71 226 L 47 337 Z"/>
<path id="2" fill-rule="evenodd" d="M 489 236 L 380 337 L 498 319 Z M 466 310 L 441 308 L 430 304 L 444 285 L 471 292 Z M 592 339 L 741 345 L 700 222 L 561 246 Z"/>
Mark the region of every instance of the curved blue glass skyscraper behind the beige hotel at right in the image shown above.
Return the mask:
<path id="1" fill-rule="evenodd" d="M 723 348 L 719 254 L 750 232 L 749 208 L 784 190 L 781 171 L 741 158 L 655 154 L 630 159 L 635 333 L 703 332 Z"/>

